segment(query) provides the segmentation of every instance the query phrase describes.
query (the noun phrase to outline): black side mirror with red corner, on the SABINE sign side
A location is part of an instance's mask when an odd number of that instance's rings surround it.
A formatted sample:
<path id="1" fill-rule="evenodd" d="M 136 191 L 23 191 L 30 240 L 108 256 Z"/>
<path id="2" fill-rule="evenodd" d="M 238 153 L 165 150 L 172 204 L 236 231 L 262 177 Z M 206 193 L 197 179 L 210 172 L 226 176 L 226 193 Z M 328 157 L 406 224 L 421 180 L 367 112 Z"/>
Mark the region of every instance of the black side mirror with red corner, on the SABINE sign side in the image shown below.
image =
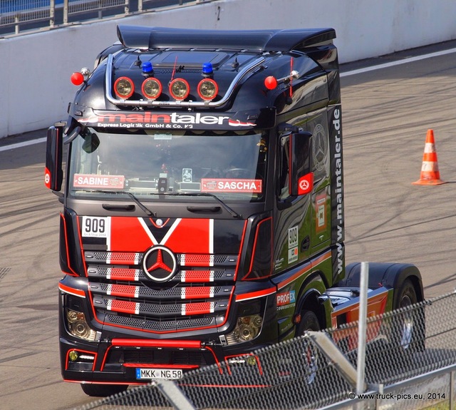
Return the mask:
<path id="1" fill-rule="evenodd" d="M 52 126 L 48 128 L 44 185 L 46 185 L 46 188 L 53 191 L 60 191 L 62 189 L 62 146 L 63 126 Z"/>

